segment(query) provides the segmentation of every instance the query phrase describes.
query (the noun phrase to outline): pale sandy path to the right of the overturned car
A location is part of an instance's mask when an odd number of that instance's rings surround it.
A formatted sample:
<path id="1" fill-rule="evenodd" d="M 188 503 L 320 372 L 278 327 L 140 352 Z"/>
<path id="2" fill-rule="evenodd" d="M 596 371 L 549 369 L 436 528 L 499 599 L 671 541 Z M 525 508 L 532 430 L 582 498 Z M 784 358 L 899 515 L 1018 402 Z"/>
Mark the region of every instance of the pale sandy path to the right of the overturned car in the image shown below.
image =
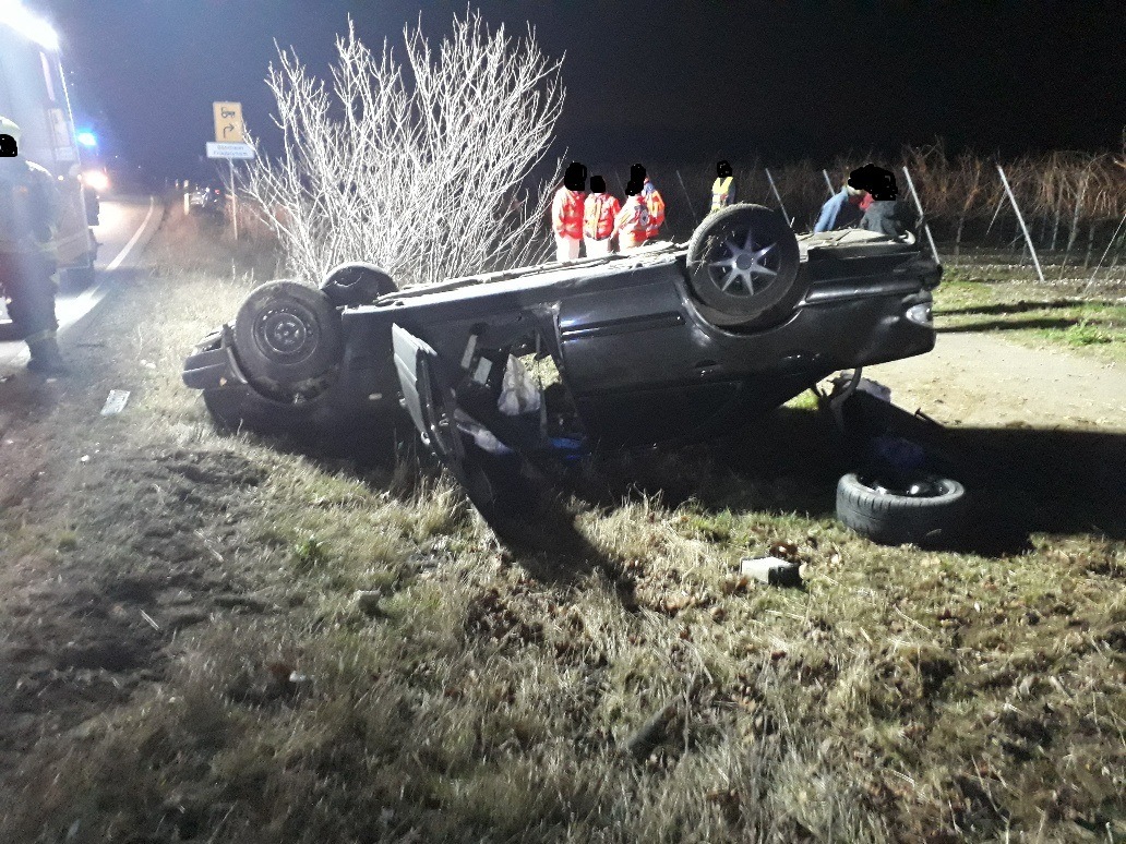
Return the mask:
<path id="1" fill-rule="evenodd" d="M 932 352 L 864 372 L 946 424 L 1126 431 L 1126 369 L 1060 349 L 939 333 Z"/>

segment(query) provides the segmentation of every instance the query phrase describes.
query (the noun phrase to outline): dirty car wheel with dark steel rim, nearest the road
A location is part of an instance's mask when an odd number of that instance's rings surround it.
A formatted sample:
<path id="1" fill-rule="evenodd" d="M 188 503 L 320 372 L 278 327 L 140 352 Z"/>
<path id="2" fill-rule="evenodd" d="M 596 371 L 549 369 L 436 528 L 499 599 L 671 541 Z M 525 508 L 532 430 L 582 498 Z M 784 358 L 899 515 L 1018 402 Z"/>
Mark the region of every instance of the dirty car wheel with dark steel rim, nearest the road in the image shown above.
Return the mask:
<path id="1" fill-rule="evenodd" d="M 296 281 L 270 281 L 239 308 L 234 352 L 251 381 L 286 392 L 337 366 L 342 334 L 340 313 L 323 293 Z"/>

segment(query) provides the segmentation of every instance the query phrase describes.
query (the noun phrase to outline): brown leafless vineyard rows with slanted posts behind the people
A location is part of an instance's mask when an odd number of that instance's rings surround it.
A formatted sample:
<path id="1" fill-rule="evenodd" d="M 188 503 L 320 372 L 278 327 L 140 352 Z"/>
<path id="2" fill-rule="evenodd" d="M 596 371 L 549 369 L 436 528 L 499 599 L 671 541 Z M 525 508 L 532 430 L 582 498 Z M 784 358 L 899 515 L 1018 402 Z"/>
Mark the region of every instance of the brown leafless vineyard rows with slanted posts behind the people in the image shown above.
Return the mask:
<path id="1" fill-rule="evenodd" d="M 906 168 L 948 263 L 1030 262 L 1030 241 L 1046 268 L 1126 266 L 1126 160 L 1111 153 L 951 158 L 938 144 L 908 147 L 897 159 L 847 154 L 824 165 L 803 160 L 768 169 L 753 160 L 732 167 L 739 201 L 785 208 L 795 231 L 805 232 L 812 230 L 831 190 L 839 190 L 848 173 L 868 161 L 894 170 L 904 197 Z M 1012 189 L 1011 199 L 999 164 Z M 686 240 L 708 210 L 715 163 L 646 162 L 646 168 L 667 204 L 664 235 Z M 590 167 L 619 195 L 628 171 L 622 163 Z"/>

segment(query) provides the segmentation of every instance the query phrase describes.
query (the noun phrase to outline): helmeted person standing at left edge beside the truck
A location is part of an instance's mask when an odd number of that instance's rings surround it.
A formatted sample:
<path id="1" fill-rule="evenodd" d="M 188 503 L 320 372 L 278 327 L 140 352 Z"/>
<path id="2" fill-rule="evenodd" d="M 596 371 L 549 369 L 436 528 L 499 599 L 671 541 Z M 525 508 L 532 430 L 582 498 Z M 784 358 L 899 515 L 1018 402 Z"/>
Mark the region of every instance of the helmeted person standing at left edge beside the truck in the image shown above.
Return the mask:
<path id="1" fill-rule="evenodd" d="M 0 287 L 8 298 L 8 315 L 32 353 L 27 368 L 62 375 L 66 363 L 55 339 L 52 278 L 59 266 L 55 180 L 19 156 L 19 126 L 0 117 Z"/>

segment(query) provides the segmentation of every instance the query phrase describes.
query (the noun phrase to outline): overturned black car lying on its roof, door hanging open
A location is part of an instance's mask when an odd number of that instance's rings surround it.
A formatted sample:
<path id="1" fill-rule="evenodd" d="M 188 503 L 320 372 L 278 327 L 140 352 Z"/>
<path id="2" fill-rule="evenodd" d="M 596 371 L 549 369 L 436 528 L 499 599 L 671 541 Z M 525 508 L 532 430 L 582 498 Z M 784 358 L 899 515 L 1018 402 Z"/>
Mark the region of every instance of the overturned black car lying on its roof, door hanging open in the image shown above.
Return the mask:
<path id="1" fill-rule="evenodd" d="M 706 439 L 839 369 L 929 351 L 940 275 L 913 242 L 797 237 L 736 205 L 687 245 L 405 291 L 363 263 L 319 290 L 274 281 L 195 349 L 184 381 L 221 424 L 266 432 L 375 430 L 405 408 L 488 515 L 497 454 Z M 557 370 L 522 405 L 520 358 Z"/>

